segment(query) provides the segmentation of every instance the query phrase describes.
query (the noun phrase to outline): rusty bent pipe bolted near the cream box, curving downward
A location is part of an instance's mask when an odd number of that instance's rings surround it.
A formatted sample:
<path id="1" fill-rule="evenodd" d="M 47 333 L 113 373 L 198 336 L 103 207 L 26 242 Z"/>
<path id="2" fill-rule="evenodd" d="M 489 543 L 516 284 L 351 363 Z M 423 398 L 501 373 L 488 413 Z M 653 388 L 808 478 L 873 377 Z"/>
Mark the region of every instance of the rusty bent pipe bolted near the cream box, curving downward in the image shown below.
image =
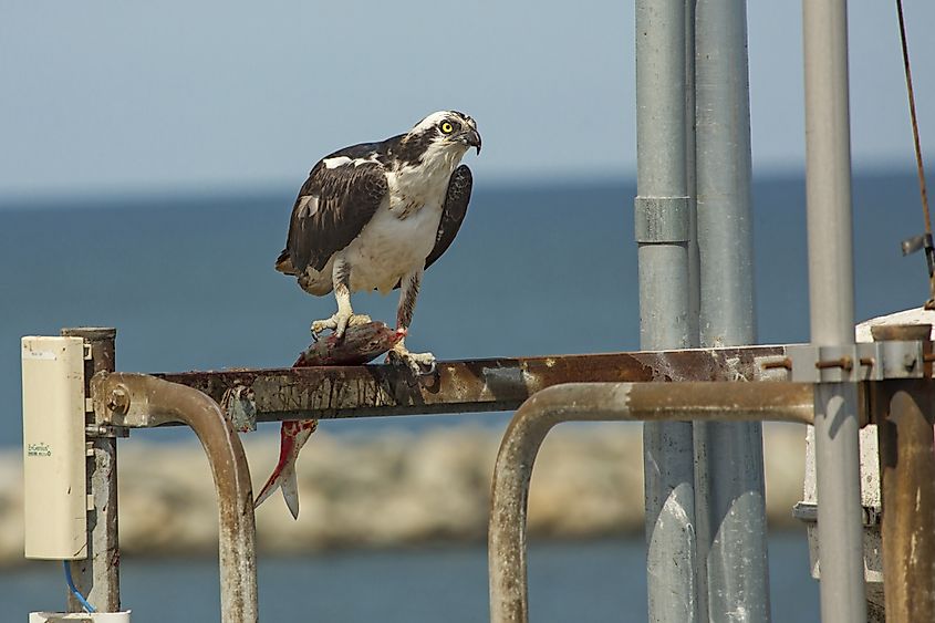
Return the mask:
<path id="1" fill-rule="evenodd" d="M 186 424 L 211 467 L 220 517 L 221 621 L 254 623 L 257 614 L 253 490 L 243 446 L 217 403 L 201 392 L 143 374 L 100 373 L 91 396 L 98 419 L 116 426 Z"/>

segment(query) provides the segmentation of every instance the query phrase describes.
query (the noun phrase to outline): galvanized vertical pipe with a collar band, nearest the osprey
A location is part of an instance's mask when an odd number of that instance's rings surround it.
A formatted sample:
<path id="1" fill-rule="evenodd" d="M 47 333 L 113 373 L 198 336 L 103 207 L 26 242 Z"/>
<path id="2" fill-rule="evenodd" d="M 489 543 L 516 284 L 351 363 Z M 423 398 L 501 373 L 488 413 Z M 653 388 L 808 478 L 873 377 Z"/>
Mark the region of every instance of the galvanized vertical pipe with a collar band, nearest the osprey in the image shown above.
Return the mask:
<path id="1" fill-rule="evenodd" d="M 690 345 L 685 33 L 685 0 L 637 0 L 635 231 L 645 350 Z M 694 622 L 692 424 L 645 424 L 643 454 L 650 621 Z"/>

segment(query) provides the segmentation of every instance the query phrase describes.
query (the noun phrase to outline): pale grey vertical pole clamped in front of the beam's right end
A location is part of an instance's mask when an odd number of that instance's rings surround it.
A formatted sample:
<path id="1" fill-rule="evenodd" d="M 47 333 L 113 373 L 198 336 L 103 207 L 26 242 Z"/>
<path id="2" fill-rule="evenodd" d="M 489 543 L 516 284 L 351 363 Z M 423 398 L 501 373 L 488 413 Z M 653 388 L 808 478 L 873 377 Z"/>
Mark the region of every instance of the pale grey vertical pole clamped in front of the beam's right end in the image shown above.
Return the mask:
<path id="1" fill-rule="evenodd" d="M 854 343 L 846 0 L 803 0 L 811 341 Z M 866 621 L 853 383 L 815 387 L 821 620 Z"/>

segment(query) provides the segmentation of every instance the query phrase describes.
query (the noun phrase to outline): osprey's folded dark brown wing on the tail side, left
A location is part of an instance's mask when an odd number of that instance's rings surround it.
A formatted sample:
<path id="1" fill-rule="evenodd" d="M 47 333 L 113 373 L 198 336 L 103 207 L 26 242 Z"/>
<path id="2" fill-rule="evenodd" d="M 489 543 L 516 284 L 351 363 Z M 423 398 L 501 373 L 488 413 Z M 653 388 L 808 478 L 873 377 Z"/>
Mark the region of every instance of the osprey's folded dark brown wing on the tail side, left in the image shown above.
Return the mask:
<path id="1" fill-rule="evenodd" d="M 386 193 L 386 174 L 380 163 L 347 162 L 334 168 L 328 168 L 324 160 L 316 164 L 295 199 L 285 250 L 277 267 L 291 264 L 292 270 L 283 272 L 292 274 L 302 274 L 308 267 L 321 271 L 331 256 L 361 233 Z"/>

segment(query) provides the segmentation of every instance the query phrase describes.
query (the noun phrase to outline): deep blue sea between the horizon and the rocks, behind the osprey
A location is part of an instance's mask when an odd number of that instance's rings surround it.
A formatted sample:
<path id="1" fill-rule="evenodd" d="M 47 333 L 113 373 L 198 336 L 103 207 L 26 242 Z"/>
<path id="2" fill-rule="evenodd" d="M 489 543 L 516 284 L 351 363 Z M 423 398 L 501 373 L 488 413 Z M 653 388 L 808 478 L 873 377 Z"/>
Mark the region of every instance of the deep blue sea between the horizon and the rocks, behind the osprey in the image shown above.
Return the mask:
<path id="1" fill-rule="evenodd" d="M 125 371 L 290 365 L 309 342 L 310 322 L 335 308 L 333 297 L 309 297 L 272 269 L 294 193 L 0 198 L 0 447 L 21 438 L 18 343 L 25 334 L 116 326 Z M 478 180 L 455 245 L 426 274 L 409 346 L 443 359 L 635 350 L 634 195 L 627 183 Z M 804 180 L 757 179 L 754 195 L 759 340 L 807 341 Z M 856 175 L 853 197 L 858 318 L 921 304 L 924 260 L 902 258 L 898 248 L 922 230 L 913 172 Z M 354 309 L 393 322 L 396 300 L 356 294 Z"/>

